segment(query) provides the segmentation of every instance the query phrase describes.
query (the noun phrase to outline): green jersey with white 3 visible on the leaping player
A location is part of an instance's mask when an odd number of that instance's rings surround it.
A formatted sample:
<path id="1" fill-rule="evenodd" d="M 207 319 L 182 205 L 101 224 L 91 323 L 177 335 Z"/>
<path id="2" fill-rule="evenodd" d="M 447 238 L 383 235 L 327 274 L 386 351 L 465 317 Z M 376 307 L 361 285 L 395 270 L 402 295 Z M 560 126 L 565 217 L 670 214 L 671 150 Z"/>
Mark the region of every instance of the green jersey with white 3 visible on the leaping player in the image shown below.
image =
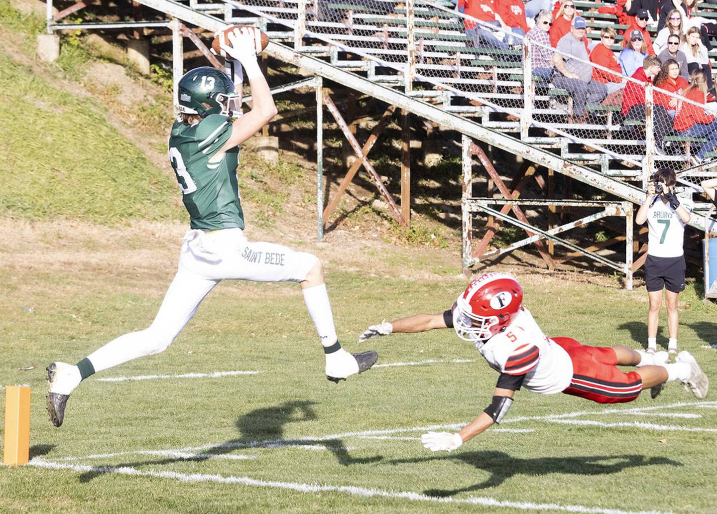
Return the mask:
<path id="1" fill-rule="evenodd" d="M 169 161 L 174 168 L 192 229 L 205 232 L 244 228 L 237 184 L 239 147 L 209 162 L 232 135 L 232 120 L 210 114 L 199 123 L 176 121 L 169 136 Z"/>

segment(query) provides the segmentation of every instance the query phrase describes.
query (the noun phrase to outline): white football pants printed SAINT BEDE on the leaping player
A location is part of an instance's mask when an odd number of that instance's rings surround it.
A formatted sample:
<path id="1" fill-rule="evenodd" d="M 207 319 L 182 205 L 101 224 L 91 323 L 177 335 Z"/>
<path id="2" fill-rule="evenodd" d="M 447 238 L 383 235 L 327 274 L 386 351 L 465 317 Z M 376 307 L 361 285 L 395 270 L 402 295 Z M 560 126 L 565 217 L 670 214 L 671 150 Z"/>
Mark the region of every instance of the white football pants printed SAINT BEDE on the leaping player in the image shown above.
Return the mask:
<path id="1" fill-rule="evenodd" d="M 153 323 L 120 335 L 87 358 L 95 371 L 166 350 L 199 303 L 220 280 L 301 282 L 318 258 L 281 244 L 249 242 L 242 229 L 190 230 L 184 237 L 179 269 Z"/>

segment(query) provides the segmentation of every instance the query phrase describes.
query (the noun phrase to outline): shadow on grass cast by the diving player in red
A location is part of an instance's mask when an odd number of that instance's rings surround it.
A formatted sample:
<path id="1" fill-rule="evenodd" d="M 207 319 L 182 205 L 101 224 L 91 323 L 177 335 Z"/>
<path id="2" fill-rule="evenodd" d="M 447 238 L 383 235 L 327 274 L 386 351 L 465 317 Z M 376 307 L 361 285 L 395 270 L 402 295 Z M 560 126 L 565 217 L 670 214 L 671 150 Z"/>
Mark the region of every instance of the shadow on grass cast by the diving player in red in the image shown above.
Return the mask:
<path id="1" fill-rule="evenodd" d="M 670 465 L 679 467 L 683 464 L 665 457 L 644 455 L 592 455 L 587 457 L 541 457 L 538 459 L 516 459 L 505 452 L 466 452 L 446 457 L 424 457 L 422 459 L 391 460 L 391 464 L 427 462 L 430 460 L 457 459 L 479 470 L 490 473 L 488 480 L 479 484 L 461 487 L 460 489 L 428 489 L 429 496 L 452 496 L 460 492 L 471 492 L 489 487 L 496 487 L 515 475 L 538 476 L 548 473 L 570 475 L 609 475 L 628 467 Z"/>

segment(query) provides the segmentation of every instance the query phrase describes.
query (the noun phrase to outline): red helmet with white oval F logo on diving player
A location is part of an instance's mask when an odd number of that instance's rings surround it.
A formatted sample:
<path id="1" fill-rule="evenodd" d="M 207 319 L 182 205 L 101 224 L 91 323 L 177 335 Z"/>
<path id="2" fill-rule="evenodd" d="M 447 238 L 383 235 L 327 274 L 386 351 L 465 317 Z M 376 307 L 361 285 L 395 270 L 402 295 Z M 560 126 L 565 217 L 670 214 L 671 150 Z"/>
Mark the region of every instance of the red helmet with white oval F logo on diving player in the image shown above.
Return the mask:
<path id="1" fill-rule="evenodd" d="M 465 341 L 487 341 L 502 331 L 521 308 L 523 287 L 505 273 L 485 273 L 458 297 L 455 333 Z"/>

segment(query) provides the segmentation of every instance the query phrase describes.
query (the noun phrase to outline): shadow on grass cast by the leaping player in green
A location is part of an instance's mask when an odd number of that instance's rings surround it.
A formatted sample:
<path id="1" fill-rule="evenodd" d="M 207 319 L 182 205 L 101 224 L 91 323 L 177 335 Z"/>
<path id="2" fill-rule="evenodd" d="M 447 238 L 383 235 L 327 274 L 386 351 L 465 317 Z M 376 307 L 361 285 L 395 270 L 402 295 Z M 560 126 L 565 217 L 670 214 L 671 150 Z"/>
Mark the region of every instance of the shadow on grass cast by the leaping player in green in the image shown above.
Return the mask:
<path id="1" fill-rule="evenodd" d="M 80 482 L 89 482 L 95 477 L 113 472 L 120 467 L 139 467 L 149 465 L 168 465 L 176 462 L 203 461 L 229 454 L 241 448 L 281 448 L 281 447 L 303 447 L 315 446 L 326 447 L 333 453 L 338 463 L 343 466 L 353 464 L 369 464 L 376 462 L 383 457 L 366 457 L 355 459 L 348 453 L 346 445 L 341 439 L 284 439 L 284 426 L 289 423 L 300 423 L 313 421 L 316 413 L 313 409 L 313 401 L 286 401 L 284 404 L 275 407 L 256 409 L 237 419 L 237 429 L 241 437 L 231 439 L 227 442 L 217 444 L 213 447 L 202 448 L 199 452 L 191 454 L 186 450 L 171 450 L 168 454 L 179 454 L 179 457 L 167 459 L 146 460 L 143 462 L 125 462 L 112 466 L 98 466 L 80 475 Z M 161 450 L 157 454 L 162 454 Z"/>

